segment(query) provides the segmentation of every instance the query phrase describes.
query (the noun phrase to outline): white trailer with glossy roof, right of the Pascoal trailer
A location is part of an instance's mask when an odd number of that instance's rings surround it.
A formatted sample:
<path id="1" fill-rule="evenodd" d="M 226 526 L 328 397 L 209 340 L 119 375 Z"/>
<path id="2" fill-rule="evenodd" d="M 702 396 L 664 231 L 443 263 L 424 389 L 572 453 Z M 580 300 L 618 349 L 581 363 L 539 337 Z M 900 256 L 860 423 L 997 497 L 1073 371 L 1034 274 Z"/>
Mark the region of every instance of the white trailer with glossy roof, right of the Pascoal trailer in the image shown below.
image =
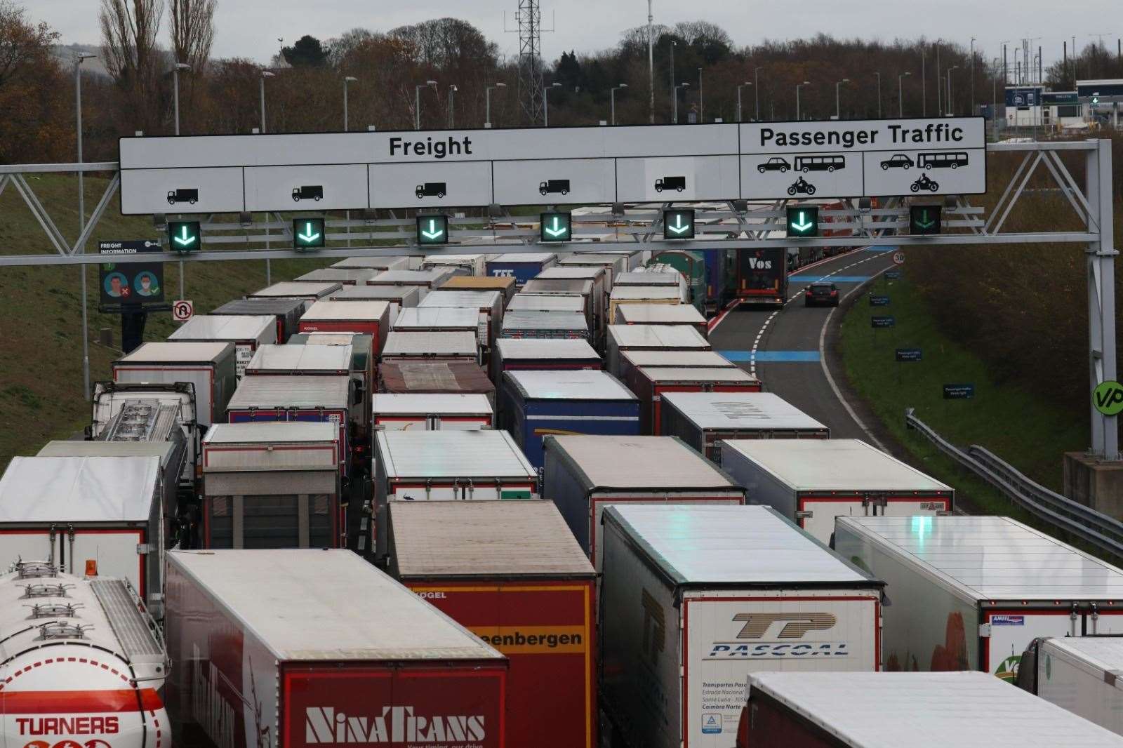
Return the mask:
<path id="1" fill-rule="evenodd" d="M 1035 637 L 1123 633 L 1123 569 L 1008 517 L 839 517 L 888 585 L 885 668 L 1017 677 Z"/>

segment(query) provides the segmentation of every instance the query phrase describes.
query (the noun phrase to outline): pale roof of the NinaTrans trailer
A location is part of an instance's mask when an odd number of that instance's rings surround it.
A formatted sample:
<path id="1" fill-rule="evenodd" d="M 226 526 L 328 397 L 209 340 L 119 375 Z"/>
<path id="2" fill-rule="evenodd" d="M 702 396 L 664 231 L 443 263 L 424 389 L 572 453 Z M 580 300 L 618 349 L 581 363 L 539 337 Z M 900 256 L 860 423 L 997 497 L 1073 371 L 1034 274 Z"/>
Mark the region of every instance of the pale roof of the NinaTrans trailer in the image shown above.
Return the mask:
<path id="1" fill-rule="evenodd" d="M 181 550 L 168 563 L 281 660 L 503 657 L 349 550 Z"/>

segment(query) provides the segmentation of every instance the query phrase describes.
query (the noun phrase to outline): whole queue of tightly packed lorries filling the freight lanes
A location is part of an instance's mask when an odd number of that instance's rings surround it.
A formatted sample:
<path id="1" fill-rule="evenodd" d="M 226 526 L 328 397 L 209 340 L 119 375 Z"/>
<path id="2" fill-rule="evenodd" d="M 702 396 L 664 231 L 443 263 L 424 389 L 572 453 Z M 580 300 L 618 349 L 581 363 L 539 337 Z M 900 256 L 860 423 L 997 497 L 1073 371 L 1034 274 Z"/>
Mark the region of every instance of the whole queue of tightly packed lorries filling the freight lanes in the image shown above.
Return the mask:
<path id="1" fill-rule="evenodd" d="M 1123 746 L 1123 571 L 706 335 L 665 257 L 522 253 L 141 345 L 0 477 L 2 745 Z"/>

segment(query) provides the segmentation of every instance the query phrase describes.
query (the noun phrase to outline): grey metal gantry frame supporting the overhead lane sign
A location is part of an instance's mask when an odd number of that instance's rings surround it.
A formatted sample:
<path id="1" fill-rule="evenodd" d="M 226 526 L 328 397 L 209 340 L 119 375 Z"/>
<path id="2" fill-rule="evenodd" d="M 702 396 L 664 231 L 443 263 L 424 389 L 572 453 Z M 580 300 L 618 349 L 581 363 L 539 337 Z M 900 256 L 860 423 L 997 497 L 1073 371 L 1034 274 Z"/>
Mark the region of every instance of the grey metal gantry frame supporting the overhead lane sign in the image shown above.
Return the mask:
<path id="1" fill-rule="evenodd" d="M 891 198 L 884 207 L 860 209 L 857 207 L 820 210 L 820 218 L 831 219 L 821 228 L 833 230 L 851 229 L 848 236 L 788 238 L 772 236 L 784 230 L 785 207 L 797 204 L 798 200 L 774 200 L 746 203 L 740 200 L 720 203 L 699 203 L 695 213 L 695 238 L 687 240 L 664 240 L 663 210 L 676 203 L 648 203 L 634 208 L 614 204 L 603 213 L 573 217 L 573 240 L 566 244 L 539 244 L 537 216 L 512 216 L 503 208 L 492 206 L 484 217 L 449 218 L 451 238 L 457 244 L 444 246 L 417 246 L 414 220 L 412 218 L 343 219 L 328 220 L 326 228 L 329 241 L 363 241 L 366 246 L 336 246 L 301 253 L 291 248 L 259 249 L 254 245 L 265 245 L 281 239 L 291 246 L 291 222 L 280 212 L 267 213 L 268 220 L 257 224 L 216 221 L 213 216 L 201 222 L 204 245 L 223 245 L 228 248 L 207 249 L 189 255 L 172 252 L 146 253 L 144 255 L 115 255 L 113 262 L 212 262 L 234 259 L 276 259 L 298 257 L 349 257 L 369 255 L 440 254 L 440 253 L 502 253 L 512 246 L 540 246 L 545 249 L 569 248 L 583 253 L 620 252 L 622 249 L 750 249 L 760 247 L 844 247 L 852 246 L 855 239 L 867 246 L 938 246 L 938 245 L 999 245 L 999 244 L 1081 244 L 1085 246 L 1088 283 L 1088 364 L 1089 383 L 1093 389 L 1102 382 L 1115 380 L 1115 249 L 1112 235 L 1112 153 L 1111 142 L 1102 139 L 1069 140 L 1050 143 L 998 143 L 989 144 L 990 153 L 1023 153 L 1024 156 L 1014 171 L 998 202 L 988 216 L 979 207 L 973 207 L 964 195 L 948 195 L 944 200 L 944 229 L 959 230 L 955 234 L 934 236 L 909 236 L 895 234 L 909 230 L 909 199 Z M 1085 186 L 1079 188 L 1061 158 L 1061 152 L 1079 152 L 1085 156 Z M 1014 206 L 1025 193 L 1030 180 L 1041 171 L 1048 173 L 1079 218 L 1083 230 L 1058 231 L 1013 231 L 1003 227 Z M 80 236 L 70 243 L 25 179 L 30 173 L 75 173 L 111 172 L 112 177 L 98 201 Z M 117 162 L 89 164 L 17 164 L 0 165 L 0 194 L 11 184 L 19 192 L 28 209 L 35 216 L 55 254 L 25 254 L 0 256 L 0 267 L 15 265 L 82 265 L 97 264 L 101 257 L 85 254 L 89 240 L 110 201 L 120 188 Z M 917 195 L 925 199 L 926 195 Z M 849 201 L 848 201 L 849 202 Z M 677 203 L 683 206 L 684 203 Z M 851 206 L 853 203 L 850 203 Z M 720 208 L 714 207 L 720 206 Z M 358 229 L 358 230 L 354 230 Z M 250 234 L 250 231 L 255 231 Z M 265 232 L 258 232 L 265 231 Z M 279 231 L 279 234 L 273 232 Z M 163 235 L 163 231 L 161 231 Z M 126 238 L 126 237 L 115 237 Z M 166 236 L 161 236 L 166 243 Z M 239 248 L 240 245 L 240 248 Z M 181 289 L 182 291 L 182 289 Z M 1120 459 L 1119 428 L 1116 417 L 1103 416 L 1092 404 L 1092 438 L 1089 455 L 1107 462 Z"/>

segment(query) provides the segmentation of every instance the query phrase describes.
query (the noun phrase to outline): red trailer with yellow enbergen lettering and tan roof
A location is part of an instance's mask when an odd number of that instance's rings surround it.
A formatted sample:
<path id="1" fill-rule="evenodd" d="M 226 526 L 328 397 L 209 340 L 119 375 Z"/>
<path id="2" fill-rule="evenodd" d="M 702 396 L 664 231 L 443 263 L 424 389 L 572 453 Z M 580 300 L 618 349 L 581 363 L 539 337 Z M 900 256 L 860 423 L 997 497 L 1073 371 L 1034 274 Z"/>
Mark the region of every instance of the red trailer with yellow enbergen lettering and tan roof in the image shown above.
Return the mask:
<path id="1" fill-rule="evenodd" d="M 510 659 L 510 744 L 593 748 L 595 574 L 557 507 L 395 502 L 390 536 L 391 574 Z"/>

